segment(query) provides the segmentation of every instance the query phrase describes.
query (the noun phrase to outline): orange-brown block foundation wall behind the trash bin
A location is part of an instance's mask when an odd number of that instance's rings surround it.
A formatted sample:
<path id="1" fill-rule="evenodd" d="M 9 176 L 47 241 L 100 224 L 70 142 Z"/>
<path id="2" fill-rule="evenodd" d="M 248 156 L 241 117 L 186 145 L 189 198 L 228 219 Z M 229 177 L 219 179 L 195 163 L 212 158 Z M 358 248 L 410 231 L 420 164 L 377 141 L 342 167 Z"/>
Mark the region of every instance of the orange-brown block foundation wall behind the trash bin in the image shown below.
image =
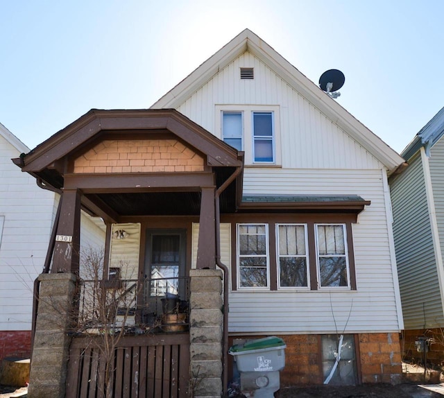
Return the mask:
<path id="1" fill-rule="evenodd" d="M 266 336 L 230 336 L 230 345 L 235 338 L 261 338 Z M 285 367 L 280 372 L 280 386 L 322 384 L 323 374 L 322 336 L 293 334 L 280 338 L 287 344 Z M 402 365 L 398 333 L 375 333 L 355 335 L 357 383 L 401 382 Z M 230 358 L 228 378 L 232 377 Z"/>

